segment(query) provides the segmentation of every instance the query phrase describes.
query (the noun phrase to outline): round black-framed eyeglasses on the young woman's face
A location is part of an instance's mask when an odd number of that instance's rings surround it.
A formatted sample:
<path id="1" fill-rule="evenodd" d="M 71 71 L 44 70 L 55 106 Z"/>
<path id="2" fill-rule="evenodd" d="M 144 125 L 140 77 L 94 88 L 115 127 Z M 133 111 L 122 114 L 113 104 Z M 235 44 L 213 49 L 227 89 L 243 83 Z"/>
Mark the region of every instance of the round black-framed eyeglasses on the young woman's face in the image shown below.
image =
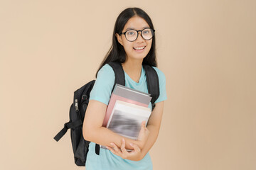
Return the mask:
<path id="1" fill-rule="evenodd" d="M 137 40 L 139 32 L 141 32 L 142 38 L 144 38 L 144 40 L 150 40 L 151 38 L 153 38 L 155 30 L 151 28 L 144 28 L 143 30 L 127 30 L 120 35 L 124 34 L 125 38 L 128 41 L 132 42 L 134 40 Z"/>

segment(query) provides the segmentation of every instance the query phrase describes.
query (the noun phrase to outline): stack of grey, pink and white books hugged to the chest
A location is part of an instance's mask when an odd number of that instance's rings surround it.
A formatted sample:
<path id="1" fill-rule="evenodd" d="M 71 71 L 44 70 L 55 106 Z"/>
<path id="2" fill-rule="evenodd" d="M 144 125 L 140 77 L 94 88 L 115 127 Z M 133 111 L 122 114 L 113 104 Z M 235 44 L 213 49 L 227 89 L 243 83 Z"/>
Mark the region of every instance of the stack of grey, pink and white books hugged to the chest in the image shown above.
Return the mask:
<path id="1" fill-rule="evenodd" d="M 142 121 L 147 123 L 151 115 L 151 109 L 148 108 L 150 101 L 150 94 L 116 84 L 103 126 L 119 135 L 137 140 Z"/>

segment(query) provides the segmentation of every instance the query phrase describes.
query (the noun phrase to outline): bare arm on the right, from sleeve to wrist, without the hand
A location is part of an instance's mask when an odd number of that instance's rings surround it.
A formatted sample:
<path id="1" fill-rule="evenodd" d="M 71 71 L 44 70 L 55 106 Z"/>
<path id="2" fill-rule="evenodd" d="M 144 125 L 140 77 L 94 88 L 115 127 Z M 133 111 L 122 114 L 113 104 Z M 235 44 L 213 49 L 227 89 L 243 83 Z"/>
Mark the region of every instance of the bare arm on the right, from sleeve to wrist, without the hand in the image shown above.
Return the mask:
<path id="1" fill-rule="evenodd" d="M 151 149 L 151 147 L 154 145 L 154 142 L 156 142 L 156 139 L 159 135 L 163 111 L 164 111 L 164 101 L 156 103 L 156 106 L 152 111 L 149 121 L 146 125 L 146 128 L 149 130 L 149 137 L 144 147 L 141 150 L 142 158 L 145 157 L 146 153 L 149 152 L 149 149 Z"/>

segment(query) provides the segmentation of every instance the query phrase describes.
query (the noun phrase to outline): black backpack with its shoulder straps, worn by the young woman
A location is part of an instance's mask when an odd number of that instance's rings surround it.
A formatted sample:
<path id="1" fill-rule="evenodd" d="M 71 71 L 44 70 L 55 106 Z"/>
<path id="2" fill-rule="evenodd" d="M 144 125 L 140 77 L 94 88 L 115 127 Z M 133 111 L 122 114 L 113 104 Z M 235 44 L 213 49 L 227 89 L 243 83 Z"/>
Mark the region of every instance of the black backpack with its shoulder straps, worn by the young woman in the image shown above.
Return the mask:
<path id="1" fill-rule="evenodd" d="M 114 70 L 114 86 L 115 84 L 121 84 L 125 86 L 124 70 L 122 69 L 122 64 L 119 62 L 110 62 L 108 64 Z M 151 94 L 152 97 L 151 104 L 153 110 L 154 102 L 159 97 L 159 78 L 154 68 L 150 67 L 149 65 L 143 65 L 143 67 L 146 72 L 146 81 L 149 94 Z M 60 138 L 65 135 L 68 129 L 71 130 L 71 142 L 74 152 L 75 164 L 78 166 L 85 166 L 88 146 L 90 144 L 90 141 L 84 140 L 83 138 L 82 123 L 85 118 L 87 105 L 89 103 L 90 91 L 92 90 L 94 84 L 95 80 L 92 80 L 74 92 L 74 100 L 70 106 L 69 112 L 70 121 L 65 123 L 64 128 L 60 130 L 60 132 L 58 132 L 58 134 L 54 137 L 54 140 L 58 142 L 58 140 L 60 140 Z M 98 155 L 100 154 L 100 146 L 97 144 L 95 147 L 95 153 Z"/>

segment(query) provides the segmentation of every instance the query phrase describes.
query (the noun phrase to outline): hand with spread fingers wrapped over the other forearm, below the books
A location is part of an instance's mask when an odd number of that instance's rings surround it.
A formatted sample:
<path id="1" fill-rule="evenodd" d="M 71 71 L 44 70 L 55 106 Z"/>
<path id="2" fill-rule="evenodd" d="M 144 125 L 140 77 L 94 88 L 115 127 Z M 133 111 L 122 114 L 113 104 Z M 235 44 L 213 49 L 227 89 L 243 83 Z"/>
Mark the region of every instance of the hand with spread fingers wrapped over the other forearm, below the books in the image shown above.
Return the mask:
<path id="1" fill-rule="evenodd" d="M 116 154 L 119 157 L 122 157 L 122 159 L 129 159 L 132 161 L 139 161 L 142 157 L 141 149 L 138 147 L 138 145 L 135 145 L 133 143 L 130 143 L 130 145 L 134 148 L 131 152 L 127 152 L 127 149 L 125 149 L 125 140 L 122 139 L 122 145 L 119 149 L 117 145 L 114 143 L 111 143 L 112 147 L 107 147 L 113 154 Z"/>

